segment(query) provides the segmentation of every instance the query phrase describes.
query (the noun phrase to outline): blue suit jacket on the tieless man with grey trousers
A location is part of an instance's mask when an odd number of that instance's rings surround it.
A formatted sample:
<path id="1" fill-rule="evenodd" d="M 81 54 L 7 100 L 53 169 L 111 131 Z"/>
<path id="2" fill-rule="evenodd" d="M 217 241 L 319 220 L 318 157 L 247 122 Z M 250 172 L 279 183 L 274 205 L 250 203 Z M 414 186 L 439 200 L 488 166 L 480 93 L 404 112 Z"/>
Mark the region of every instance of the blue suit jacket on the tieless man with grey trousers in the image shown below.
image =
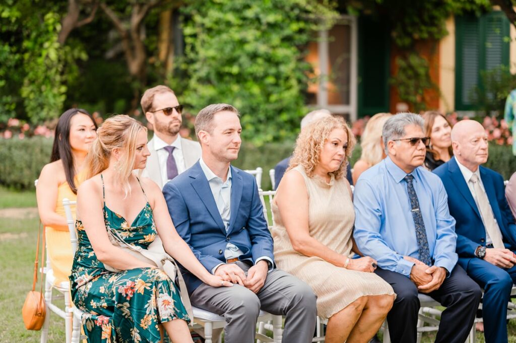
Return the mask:
<path id="1" fill-rule="evenodd" d="M 225 263 L 224 251 L 230 241 L 244 252 L 239 257 L 241 260 L 249 259 L 254 263 L 257 258 L 267 256 L 274 261 L 272 236 L 263 215 L 255 178 L 240 169 L 230 168 L 232 185 L 228 232 L 199 161 L 163 188 L 175 229 L 209 272 Z M 202 281 L 186 269 L 182 272 L 191 294 Z"/>

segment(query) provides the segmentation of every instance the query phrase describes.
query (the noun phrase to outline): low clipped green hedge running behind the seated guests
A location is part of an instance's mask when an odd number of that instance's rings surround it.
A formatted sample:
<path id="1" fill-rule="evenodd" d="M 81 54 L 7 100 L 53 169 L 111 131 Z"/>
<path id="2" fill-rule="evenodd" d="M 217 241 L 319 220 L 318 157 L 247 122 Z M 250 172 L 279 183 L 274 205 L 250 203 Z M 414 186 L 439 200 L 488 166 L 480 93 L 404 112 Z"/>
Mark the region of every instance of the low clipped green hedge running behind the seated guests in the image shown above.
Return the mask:
<path id="1" fill-rule="evenodd" d="M 30 189 L 38 178 L 41 168 L 50 160 L 52 138 L 0 139 L 0 185 L 15 189 Z M 242 145 L 234 165 L 241 169 L 263 168 L 262 188 L 271 189 L 269 169 L 292 154 L 293 142 L 268 143 L 255 146 Z M 360 157 L 361 149 L 357 144 L 351 156 L 351 165 Z M 509 179 L 516 171 L 516 157 L 510 146 L 490 144 L 489 160 L 486 167 L 496 170 Z"/>

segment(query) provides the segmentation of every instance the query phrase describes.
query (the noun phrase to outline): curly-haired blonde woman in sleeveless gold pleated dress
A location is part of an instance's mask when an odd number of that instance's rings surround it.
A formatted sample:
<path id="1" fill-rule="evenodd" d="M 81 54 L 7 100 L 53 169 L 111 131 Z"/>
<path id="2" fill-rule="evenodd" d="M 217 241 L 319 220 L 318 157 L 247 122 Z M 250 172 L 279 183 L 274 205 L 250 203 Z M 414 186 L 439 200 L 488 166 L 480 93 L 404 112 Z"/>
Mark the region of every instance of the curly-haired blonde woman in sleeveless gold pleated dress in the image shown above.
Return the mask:
<path id="1" fill-rule="evenodd" d="M 366 343 L 392 307 L 392 287 L 370 257 L 353 258 L 352 192 L 346 159 L 354 137 L 342 118 L 303 128 L 272 205 L 274 255 L 280 269 L 309 284 L 317 314 L 328 318 L 327 343 Z"/>

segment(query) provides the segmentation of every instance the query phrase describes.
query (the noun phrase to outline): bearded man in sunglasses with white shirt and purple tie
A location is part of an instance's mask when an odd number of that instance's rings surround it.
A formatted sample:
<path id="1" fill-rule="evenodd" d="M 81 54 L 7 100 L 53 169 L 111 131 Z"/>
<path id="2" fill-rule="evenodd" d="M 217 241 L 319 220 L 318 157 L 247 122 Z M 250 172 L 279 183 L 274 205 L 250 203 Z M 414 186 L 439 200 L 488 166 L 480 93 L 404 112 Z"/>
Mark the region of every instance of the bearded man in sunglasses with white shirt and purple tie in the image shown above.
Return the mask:
<path id="1" fill-rule="evenodd" d="M 201 145 L 179 135 L 183 119 L 174 92 L 167 86 L 148 89 L 141 97 L 141 108 L 152 124 L 154 136 L 148 143 L 151 153 L 143 176 L 159 187 L 193 166 L 201 157 Z"/>

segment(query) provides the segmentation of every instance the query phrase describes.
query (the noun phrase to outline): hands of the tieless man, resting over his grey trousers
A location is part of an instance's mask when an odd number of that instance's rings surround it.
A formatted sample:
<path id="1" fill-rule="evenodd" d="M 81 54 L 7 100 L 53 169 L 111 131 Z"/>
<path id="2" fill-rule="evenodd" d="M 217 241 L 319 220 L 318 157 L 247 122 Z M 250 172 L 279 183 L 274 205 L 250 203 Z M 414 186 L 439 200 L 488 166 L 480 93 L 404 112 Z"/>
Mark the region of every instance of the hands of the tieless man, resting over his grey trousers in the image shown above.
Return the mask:
<path id="1" fill-rule="evenodd" d="M 233 284 L 239 284 L 257 293 L 262 289 L 267 277 L 268 264 L 265 260 L 261 260 L 256 265 L 249 268 L 247 275 L 236 264 L 220 265 L 215 270 L 215 275 L 222 277 L 224 281 Z"/>

